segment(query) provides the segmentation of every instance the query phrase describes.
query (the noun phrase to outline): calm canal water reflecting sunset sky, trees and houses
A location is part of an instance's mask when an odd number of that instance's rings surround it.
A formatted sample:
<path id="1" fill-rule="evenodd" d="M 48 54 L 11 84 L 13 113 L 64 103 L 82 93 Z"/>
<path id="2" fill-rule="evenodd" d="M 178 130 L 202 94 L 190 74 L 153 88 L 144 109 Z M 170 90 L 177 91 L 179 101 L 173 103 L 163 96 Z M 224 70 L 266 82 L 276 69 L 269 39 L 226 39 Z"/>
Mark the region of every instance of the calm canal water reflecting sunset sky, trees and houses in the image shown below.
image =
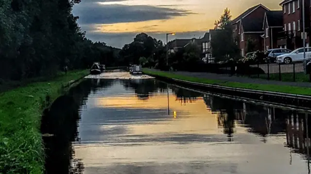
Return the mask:
<path id="1" fill-rule="evenodd" d="M 308 115 L 156 79 L 86 79 L 43 114 L 46 174 L 309 174 Z"/>

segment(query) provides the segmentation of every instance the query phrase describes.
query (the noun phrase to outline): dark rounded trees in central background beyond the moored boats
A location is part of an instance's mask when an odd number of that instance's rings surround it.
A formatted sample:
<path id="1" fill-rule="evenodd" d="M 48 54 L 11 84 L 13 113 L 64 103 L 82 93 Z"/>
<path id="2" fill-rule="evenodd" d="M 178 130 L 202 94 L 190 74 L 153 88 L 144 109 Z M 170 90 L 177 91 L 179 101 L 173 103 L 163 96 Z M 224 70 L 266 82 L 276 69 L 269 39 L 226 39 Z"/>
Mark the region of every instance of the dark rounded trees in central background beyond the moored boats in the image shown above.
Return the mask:
<path id="1" fill-rule="evenodd" d="M 166 46 L 162 41 L 148 36 L 146 33 L 136 35 L 134 41 L 124 45 L 120 51 L 120 59 L 125 64 L 141 64 L 143 67 L 168 70 L 190 70 L 203 64 L 201 51 L 197 44 L 190 43 L 166 57 Z M 167 65 L 168 64 L 168 65 Z"/>

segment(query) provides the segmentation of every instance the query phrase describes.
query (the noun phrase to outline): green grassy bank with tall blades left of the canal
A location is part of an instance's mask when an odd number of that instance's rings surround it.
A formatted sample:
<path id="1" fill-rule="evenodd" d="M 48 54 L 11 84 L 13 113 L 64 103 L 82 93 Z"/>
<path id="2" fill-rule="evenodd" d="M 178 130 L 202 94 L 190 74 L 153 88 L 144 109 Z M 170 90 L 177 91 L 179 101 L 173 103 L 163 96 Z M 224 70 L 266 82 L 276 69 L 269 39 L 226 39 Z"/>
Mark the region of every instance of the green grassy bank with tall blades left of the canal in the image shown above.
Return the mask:
<path id="1" fill-rule="evenodd" d="M 62 93 L 62 86 L 88 73 L 88 70 L 69 71 L 49 81 L 0 93 L 0 174 L 43 173 L 44 151 L 39 130 L 42 110 Z"/>

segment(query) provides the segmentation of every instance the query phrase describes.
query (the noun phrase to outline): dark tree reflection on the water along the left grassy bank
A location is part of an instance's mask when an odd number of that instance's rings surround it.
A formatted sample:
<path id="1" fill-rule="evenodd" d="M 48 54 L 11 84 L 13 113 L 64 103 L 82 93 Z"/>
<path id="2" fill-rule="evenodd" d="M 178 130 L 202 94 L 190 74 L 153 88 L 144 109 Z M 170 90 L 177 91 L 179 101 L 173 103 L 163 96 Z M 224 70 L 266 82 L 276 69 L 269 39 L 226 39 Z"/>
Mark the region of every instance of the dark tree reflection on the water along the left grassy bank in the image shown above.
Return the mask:
<path id="1" fill-rule="evenodd" d="M 68 95 L 57 98 L 42 116 L 41 132 L 45 144 L 46 174 L 69 174 L 69 171 L 83 171 L 82 163 L 70 166 L 74 161 L 73 141 L 78 140 L 77 121 L 79 106 L 85 102 L 92 83 L 83 81 L 72 88 Z M 73 169 L 75 168 L 75 169 Z M 71 172 L 70 174 L 75 174 Z"/>

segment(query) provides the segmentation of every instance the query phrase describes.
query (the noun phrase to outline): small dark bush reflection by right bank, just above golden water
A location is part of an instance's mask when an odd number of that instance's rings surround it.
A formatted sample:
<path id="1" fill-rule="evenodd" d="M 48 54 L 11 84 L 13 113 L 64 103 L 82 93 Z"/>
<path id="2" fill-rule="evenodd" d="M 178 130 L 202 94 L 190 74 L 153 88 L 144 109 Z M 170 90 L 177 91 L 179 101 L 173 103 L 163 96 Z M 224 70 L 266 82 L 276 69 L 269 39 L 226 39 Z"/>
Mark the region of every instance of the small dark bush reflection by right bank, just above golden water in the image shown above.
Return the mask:
<path id="1" fill-rule="evenodd" d="M 187 89 L 178 88 L 172 86 L 172 91 L 176 95 L 176 101 L 180 101 L 181 104 L 186 104 L 188 102 L 192 103 L 197 100 L 198 97 L 202 97 L 203 94 L 193 92 Z"/>

